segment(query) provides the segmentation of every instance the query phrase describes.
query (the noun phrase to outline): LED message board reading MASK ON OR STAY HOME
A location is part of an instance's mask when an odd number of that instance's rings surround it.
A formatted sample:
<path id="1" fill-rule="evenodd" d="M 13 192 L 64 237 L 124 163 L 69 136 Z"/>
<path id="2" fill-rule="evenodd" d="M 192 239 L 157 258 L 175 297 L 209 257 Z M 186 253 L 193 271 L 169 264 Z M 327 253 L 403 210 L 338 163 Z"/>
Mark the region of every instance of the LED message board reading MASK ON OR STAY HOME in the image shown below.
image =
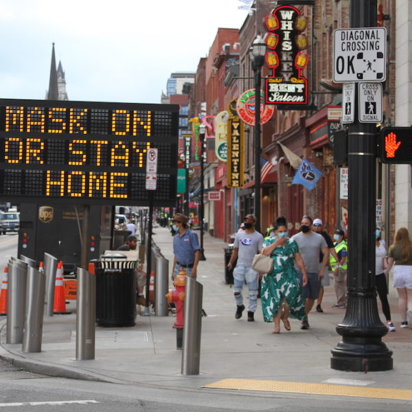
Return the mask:
<path id="1" fill-rule="evenodd" d="M 173 204 L 178 130 L 177 105 L 0 100 L 0 198 L 146 206 L 157 148 L 153 204 Z"/>

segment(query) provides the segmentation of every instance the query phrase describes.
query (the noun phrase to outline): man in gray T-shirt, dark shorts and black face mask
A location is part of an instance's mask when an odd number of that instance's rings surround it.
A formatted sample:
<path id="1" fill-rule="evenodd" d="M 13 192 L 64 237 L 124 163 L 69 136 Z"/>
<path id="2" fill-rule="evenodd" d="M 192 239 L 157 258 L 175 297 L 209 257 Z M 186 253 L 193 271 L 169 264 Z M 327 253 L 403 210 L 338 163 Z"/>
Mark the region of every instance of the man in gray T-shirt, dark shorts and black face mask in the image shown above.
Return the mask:
<path id="1" fill-rule="evenodd" d="M 308 283 L 304 286 L 306 318 L 301 324 L 301 329 L 308 329 L 308 313 L 319 296 L 321 279 L 324 276 L 325 267 L 329 260 L 329 249 L 323 236 L 312 231 L 312 218 L 310 216 L 304 216 L 301 219 L 301 231 L 292 236 L 292 239 L 299 246 L 299 253 L 304 260 L 306 272 L 308 273 Z M 321 252 L 323 253 L 323 260 L 319 263 L 319 253 Z M 296 269 L 299 279 L 301 279 L 301 271 L 297 267 Z"/>

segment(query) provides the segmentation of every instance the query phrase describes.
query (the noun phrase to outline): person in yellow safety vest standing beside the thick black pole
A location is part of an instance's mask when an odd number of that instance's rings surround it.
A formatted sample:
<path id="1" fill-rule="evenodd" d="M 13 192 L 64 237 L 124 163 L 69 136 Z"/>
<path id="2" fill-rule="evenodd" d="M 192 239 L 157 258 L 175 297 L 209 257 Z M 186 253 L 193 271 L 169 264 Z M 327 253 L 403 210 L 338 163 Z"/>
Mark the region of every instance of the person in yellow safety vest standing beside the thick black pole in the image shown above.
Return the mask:
<path id="1" fill-rule="evenodd" d="M 347 243 L 345 242 L 345 232 L 336 229 L 333 238 L 335 241 L 334 249 L 339 260 L 336 260 L 332 254 L 330 255 L 329 263 L 334 275 L 334 290 L 336 293 L 336 304 L 332 308 L 346 308 Z"/>

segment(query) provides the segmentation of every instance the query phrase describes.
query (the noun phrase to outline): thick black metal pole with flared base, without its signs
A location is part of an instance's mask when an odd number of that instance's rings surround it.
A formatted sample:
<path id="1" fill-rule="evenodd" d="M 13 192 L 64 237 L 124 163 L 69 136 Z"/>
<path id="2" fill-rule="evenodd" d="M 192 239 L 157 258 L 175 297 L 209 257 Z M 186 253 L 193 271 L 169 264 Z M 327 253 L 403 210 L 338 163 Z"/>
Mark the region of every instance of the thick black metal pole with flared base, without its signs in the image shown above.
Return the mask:
<path id="1" fill-rule="evenodd" d="M 376 0 L 351 0 L 350 22 L 351 27 L 375 27 Z M 374 124 L 356 119 L 350 125 L 347 310 L 336 327 L 342 341 L 332 350 L 330 361 L 332 369 L 342 371 L 386 371 L 393 367 L 392 352 L 382 342 L 387 328 L 379 319 L 376 303 L 376 141 Z"/>

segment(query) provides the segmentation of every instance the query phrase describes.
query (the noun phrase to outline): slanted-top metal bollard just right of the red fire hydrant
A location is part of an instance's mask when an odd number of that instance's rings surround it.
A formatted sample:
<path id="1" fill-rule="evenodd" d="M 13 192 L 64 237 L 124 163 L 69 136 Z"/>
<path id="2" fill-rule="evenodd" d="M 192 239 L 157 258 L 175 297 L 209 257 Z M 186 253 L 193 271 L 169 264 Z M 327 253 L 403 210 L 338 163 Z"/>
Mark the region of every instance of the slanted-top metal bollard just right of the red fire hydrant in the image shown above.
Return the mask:
<path id="1" fill-rule="evenodd" d="M 198 375 L 201 361 L 203 285 L 186 277 L 182 375 Z"/>

